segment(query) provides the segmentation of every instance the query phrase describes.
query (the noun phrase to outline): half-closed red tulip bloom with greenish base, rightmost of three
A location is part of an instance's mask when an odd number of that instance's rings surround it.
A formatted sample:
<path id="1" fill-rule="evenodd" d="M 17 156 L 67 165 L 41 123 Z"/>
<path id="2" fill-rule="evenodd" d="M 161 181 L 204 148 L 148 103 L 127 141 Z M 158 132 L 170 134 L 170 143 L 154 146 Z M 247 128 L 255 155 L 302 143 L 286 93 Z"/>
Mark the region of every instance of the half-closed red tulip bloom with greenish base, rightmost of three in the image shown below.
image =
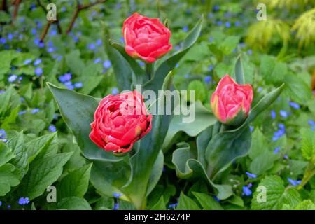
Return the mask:
<path id="1" fill-rule="evenodd" d="M 239 125 L 247 118 L 252 101 L 251 85 L 238 85 L 229 75 L 225 75 L 212 94 L 211 109 L 221 123 Z"/>

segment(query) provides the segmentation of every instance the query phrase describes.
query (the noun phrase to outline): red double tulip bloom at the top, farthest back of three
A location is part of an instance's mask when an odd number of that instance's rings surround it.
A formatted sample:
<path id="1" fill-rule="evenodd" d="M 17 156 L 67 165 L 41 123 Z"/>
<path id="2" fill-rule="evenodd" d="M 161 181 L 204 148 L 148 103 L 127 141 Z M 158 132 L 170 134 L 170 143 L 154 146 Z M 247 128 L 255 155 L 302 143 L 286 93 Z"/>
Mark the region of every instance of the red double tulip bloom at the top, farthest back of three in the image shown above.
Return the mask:
<path id="1" fill-rule="evenodd" d="M 125 50 L 128 55 L 153 63 L 172 49 L 171 31 L 158 18 L 134 13 L 123 25 Z"/>

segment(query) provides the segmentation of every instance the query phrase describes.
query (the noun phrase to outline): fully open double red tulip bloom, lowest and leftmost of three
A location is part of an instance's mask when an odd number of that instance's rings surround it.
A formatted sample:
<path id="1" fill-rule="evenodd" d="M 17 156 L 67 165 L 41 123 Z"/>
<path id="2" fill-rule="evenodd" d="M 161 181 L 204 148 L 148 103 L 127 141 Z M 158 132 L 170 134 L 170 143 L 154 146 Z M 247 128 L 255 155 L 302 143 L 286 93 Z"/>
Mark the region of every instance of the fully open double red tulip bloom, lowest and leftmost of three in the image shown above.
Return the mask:
<path id="1" fill-rule="evenodd" d="M 135 141 L 150 132 L 151 122 L 152 115 L 147 113 L 137 90 L 109 95 L 99 102 L 94 113 L 90 139 L 106 151 L 126 153 Z"/>

